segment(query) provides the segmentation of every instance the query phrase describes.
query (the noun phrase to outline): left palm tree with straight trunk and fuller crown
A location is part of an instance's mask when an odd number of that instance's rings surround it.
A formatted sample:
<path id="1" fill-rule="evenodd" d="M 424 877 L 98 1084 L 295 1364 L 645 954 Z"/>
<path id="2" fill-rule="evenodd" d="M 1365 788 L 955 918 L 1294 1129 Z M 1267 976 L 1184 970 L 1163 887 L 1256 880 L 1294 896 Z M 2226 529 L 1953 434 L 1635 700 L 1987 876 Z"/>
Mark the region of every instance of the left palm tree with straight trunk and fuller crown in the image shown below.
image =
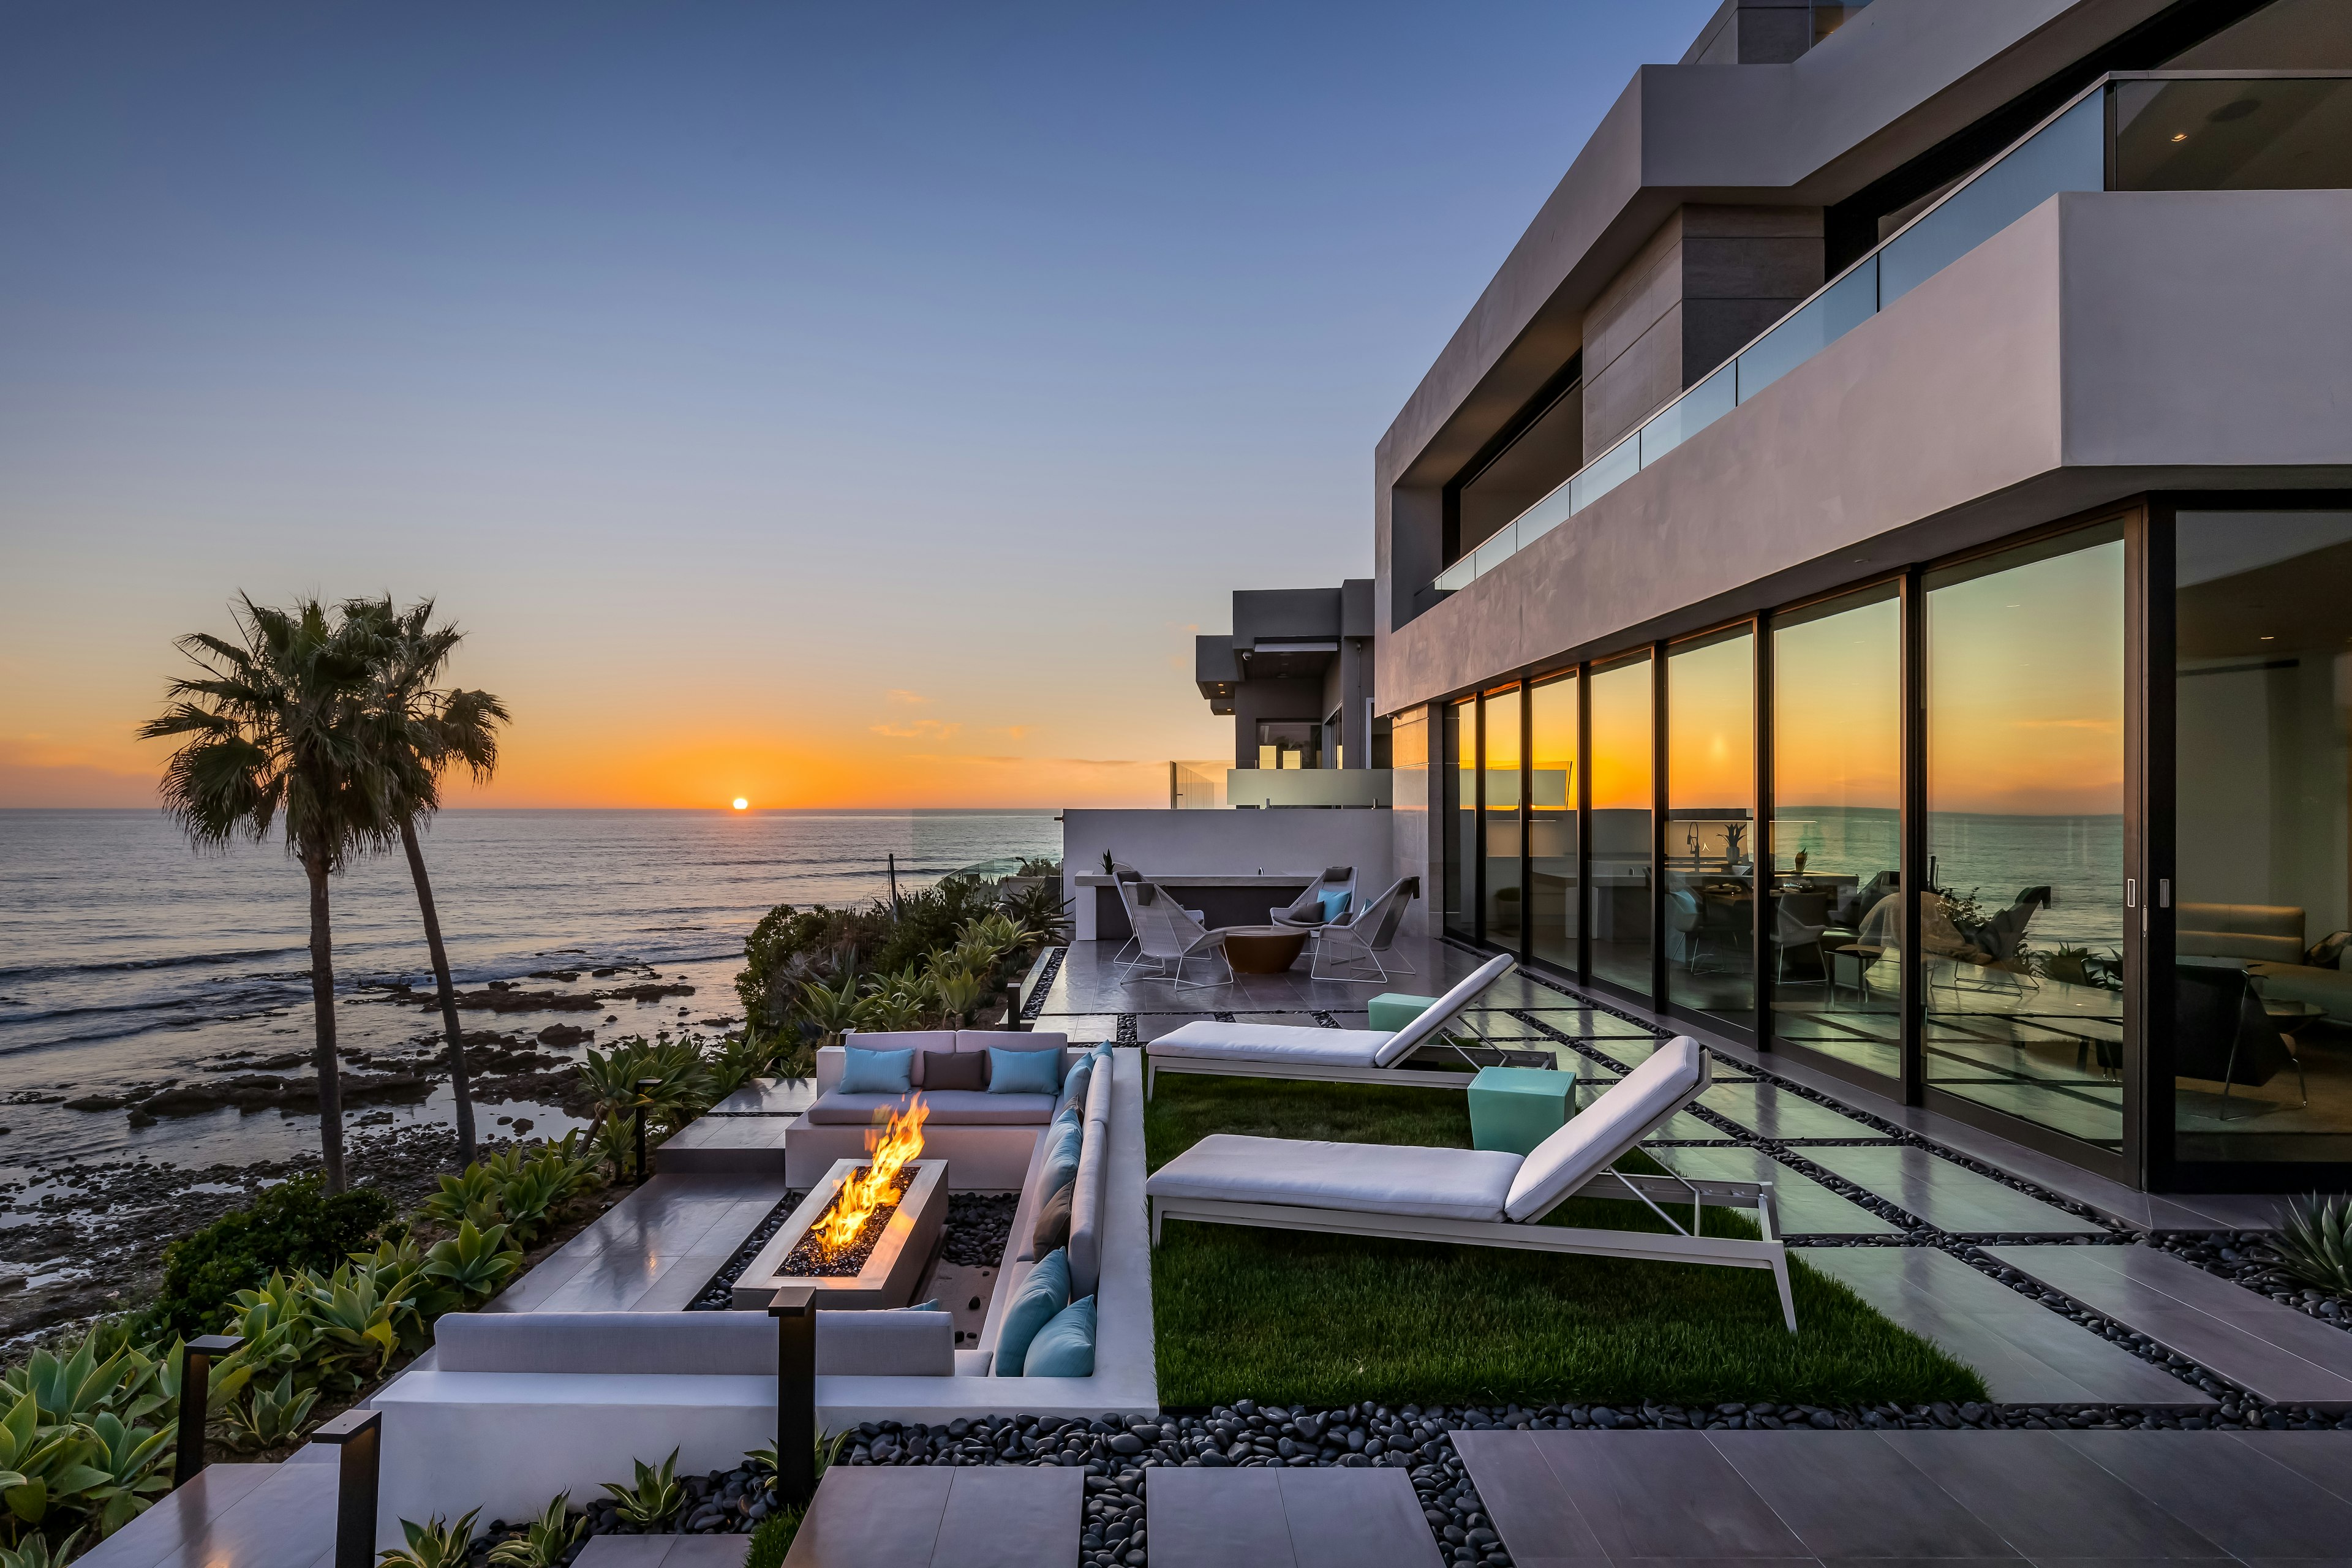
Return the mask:
<path id="1" fill-rule="evenodd" d="M 193 632 L 174 646 L 202 675 L 174 679 L 151 741 L 186 736 L 162 776 L 165 811 L 198 849 L 268 842 L 310 882 L 310 1020 L 318 1051 L 318 1138 L 327 1190 L 343 1190 L 343 1086 L 334 1060 L 334 940 L 327 884 L 353 851 L 393 839 L 367 755 L 367 693 L 379 637 L 318 599 L 263 609 L 238 595 L 242 646 Z"/>

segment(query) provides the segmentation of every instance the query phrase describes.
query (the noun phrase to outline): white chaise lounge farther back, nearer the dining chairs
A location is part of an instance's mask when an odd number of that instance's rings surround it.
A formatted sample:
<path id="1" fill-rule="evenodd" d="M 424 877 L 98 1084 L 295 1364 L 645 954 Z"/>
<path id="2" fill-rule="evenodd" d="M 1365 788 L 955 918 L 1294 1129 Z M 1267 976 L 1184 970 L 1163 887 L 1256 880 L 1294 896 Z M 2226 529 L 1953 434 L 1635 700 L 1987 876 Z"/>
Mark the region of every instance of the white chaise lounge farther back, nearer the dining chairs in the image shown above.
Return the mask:
<path id="1" fill-rule="evenodd" d="M 1477 997 L 1508 976 L 1503 954 L 1479 964 L 1461 985 L 1397 1032 L 1310 1030 L 1287 1023 L 1216 1023 L 1200 1018 L 1143 1046 L 1143 1098 L 1162 1072 L 1204 1072 L 1237 1079 L 1312 1079 L 1319 1084 L 1411 1084 L 1418 1088 L 1470 1088 L 1477 1063 L 1451 1037 L 1439 1034 Z M 1475 1034 L 1472 1034 L 1475 1037 Z M 1423 1072 L 1402 1067 L 1423 1044 L 1439 1041 L 1472 1072 Z"/>

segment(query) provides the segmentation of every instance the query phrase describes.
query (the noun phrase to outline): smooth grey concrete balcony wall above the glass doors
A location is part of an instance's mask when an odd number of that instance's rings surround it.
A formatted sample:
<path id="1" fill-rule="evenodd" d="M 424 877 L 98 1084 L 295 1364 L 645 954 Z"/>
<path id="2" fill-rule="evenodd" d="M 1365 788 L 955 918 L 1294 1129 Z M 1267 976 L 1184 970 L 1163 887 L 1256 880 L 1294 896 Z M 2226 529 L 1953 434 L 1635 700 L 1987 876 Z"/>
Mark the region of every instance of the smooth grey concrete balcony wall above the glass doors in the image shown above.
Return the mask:
<path id="1" fill-rule="evenodd" d="M 1381 710 L 2147 489 L 2352 482 L 2345 256 L 2347 190 L 2053 197 L 1390 632 Z"/>

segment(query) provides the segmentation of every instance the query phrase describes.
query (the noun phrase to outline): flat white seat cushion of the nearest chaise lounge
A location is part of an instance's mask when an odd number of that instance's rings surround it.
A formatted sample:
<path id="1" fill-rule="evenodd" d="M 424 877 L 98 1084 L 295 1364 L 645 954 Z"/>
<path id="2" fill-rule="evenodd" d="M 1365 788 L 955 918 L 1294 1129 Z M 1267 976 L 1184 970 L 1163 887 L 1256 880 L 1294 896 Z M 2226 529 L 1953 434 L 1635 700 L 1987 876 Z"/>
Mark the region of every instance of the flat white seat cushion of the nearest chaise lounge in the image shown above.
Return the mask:
<path id="1" fill-rule="evenodd" d="M 1435 1220 L 1501 1220 L 1519 1157 L 1385 1143 L 1211 1133 L 1160 1166 L 1143 1192 Z"/>

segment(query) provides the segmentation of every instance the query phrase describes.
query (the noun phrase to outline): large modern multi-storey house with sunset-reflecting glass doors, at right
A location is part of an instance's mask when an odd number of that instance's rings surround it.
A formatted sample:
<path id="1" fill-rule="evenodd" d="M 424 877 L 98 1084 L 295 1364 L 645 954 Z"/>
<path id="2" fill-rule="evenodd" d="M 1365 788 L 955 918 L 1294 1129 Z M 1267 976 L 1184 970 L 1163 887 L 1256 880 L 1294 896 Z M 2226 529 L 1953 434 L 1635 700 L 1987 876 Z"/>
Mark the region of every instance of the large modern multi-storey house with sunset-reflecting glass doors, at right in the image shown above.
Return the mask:
<path id="1" fill-rule="evenodd" d="M 2352 5 L 1726 0 L 1374 477 L 1444 933 L 2136 1187 L 2352 1182 Z"/>

